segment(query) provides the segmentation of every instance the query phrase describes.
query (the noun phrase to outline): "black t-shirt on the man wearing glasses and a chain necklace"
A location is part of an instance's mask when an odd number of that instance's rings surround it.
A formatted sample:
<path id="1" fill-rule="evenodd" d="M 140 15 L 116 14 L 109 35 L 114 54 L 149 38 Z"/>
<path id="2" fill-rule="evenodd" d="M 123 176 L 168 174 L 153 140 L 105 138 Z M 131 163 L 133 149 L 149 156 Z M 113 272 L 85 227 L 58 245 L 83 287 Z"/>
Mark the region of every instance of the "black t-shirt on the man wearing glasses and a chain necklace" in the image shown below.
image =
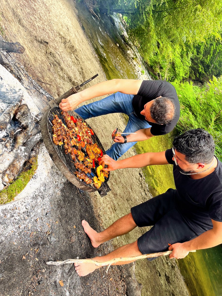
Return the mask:
<path id="1" fill-rule="evenodd" d="M 212 221 L 222 222 L 222 163 L 218 160 L 215 170 L 201 179 L 191 179 L 180 173 L 172 160 L 172 149 L 165 152 L 168 163 L 173 164 L 176 186 L 176 206 L 186 223 L 199 235 L 212 229 Z"/>

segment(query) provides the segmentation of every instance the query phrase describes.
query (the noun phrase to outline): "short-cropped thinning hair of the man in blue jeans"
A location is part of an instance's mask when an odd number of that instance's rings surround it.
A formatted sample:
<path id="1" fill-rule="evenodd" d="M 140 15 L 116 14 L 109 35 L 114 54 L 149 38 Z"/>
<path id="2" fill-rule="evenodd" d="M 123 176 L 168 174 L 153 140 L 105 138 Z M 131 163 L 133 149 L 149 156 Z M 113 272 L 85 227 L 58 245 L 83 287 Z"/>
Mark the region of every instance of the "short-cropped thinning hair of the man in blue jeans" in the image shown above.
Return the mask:
<path id="1" fill-rule="evenodd" d="M 157 124 L 170 123 L 174 118 L 175 105 L 172 99 L 163 96 L 156 98 L 150 106 L 150 115 Z"/>

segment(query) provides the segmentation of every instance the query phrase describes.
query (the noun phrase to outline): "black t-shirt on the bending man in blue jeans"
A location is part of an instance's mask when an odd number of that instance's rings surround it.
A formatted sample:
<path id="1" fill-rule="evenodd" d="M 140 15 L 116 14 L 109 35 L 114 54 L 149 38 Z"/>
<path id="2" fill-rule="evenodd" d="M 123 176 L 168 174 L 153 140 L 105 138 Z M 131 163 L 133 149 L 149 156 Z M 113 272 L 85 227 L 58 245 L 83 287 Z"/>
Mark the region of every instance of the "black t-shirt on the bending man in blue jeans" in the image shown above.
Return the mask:
<path id="1" fill-rule="evenodd" d="M 158 96 L 165 96 L 173 100 L 175 105 L 175 116 L 168 124 L 157 124 L 149 122 L 140 112 L 144 109 L 144 105 Z M 146 120 L 151 125 L 150 132 L 154 136 L 165 135 L 173 130 L 180 117 L 180 103 L 176 94 L 175 87 L 167 81 L 163 80 L 144 80 L 139 88 L 138 93 L 133 96 L 133 109 L 141 120 Z"/>

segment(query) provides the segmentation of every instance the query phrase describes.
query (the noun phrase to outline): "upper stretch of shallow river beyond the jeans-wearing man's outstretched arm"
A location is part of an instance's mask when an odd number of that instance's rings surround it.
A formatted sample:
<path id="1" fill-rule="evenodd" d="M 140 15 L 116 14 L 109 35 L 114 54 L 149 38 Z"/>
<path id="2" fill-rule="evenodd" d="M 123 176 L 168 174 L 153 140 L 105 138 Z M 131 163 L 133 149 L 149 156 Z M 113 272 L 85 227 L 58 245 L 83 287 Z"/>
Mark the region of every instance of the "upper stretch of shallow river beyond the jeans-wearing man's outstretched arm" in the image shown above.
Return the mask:
<path id="1" fill-rule="evenodd" d="M 106 78 L 137 79 L 138 69 L 135 67 L 137 54 L 135 53 L 132 57 L 126 55 L 129 51 L 129 47 L 126 46 L 121 38 L 122 32 L 117 32 L 116 26 L 114 27 L 112 25 L 107 15 L 102 15 L 102 20 L 99 21 L 89 13 L 82 2 L 77 2 L 76 5 L 83 29 L 89 36 L 96 54 L 99 57 Z M 118 20 L 115 18 L 116 23 L 117 21 Z M 145 77 L 149 77 L 145 65 L 142 65 L 139 71 L 141 72 L 141 70 L 144 70 Z"/>

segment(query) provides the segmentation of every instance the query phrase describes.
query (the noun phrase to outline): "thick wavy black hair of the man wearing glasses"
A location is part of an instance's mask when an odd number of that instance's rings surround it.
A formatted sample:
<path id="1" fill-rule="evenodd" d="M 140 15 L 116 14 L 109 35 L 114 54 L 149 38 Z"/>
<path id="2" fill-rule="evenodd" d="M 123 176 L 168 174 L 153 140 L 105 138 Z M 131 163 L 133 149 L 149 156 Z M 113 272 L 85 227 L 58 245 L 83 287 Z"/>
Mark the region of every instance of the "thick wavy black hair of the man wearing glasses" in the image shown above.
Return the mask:
<path id="1" fill-rule="evenodd" d="M 176 136 L 173 147 L 186 155 L 185 159 L 189 163 L 210 163 L 215 150 L 213 137 L 202 128 L 192 129 Z"/>

